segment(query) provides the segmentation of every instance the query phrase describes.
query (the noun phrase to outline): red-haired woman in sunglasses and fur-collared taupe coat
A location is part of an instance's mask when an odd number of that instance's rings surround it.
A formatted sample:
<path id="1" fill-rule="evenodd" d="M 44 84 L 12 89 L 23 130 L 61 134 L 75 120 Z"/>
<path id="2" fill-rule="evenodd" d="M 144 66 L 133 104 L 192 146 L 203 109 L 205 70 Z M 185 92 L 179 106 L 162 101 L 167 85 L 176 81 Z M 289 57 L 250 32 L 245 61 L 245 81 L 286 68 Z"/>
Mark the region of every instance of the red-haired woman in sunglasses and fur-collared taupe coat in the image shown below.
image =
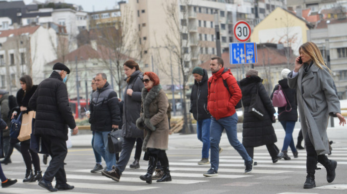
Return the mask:
<path id="1" fill-rule="evenodd" d="M 145 72 L 143 82 L 145 87 L 142 89 L 141 116 L 137 119 L 136 125 L 144 130 L 142 149 L 146 151 L 144 159 L 149 161 L 147 173 L 140 176 L 140 179 L 151 184 L 152 174 L 159 160 L 164 175 L 157 182 L 171 181 L 169 160 L 165 151 L 169 142 L 168 97 L 159 84 L 157 74 Z"/>

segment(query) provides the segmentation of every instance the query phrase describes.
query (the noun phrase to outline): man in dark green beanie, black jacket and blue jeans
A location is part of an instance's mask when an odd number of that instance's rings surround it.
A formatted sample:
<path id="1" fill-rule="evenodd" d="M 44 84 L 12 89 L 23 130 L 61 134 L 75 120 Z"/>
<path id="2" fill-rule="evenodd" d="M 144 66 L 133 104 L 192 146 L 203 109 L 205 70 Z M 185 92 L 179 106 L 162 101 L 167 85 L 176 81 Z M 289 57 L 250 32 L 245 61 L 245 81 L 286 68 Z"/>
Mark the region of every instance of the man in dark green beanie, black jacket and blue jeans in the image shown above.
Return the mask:
<path id="1" fill-rule="evenodd" d="M 208 75 L 201 67 L 195 67 L 192 73 L 195 81 L 190 95 L 190 112 L 197 121 L 196 134 L 202 142 L 202 159 L 198 164 L 209 164 L 211 114 L 207 110 Z"/>

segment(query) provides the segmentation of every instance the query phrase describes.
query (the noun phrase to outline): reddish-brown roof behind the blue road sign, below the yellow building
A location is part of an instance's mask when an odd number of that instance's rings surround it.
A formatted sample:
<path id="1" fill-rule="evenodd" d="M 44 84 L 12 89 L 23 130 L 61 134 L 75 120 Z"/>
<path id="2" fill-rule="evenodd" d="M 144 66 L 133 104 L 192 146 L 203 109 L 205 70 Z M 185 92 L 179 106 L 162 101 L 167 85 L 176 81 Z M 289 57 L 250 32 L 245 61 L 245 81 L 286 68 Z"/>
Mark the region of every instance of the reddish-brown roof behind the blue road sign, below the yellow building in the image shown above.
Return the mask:
<path id="1" fill-rule="evenodd" d="M 254 66 L 265 65 L 283 65 L 287 64 L 287 57 L 284 49 L 277 49 L 276 44 L 258 44 L 257 45 L 257 63 Z M 236 65 L 230 64 L 229 52 L 222 53 L 222 59 L 224 61 L 224 67 L 236 68 Z M 294 63 L 295 56 L 290 59 L 290 63 Z M 210 69 L 210 60 L 205 61 L 199 65 L 203 69 Z"/>

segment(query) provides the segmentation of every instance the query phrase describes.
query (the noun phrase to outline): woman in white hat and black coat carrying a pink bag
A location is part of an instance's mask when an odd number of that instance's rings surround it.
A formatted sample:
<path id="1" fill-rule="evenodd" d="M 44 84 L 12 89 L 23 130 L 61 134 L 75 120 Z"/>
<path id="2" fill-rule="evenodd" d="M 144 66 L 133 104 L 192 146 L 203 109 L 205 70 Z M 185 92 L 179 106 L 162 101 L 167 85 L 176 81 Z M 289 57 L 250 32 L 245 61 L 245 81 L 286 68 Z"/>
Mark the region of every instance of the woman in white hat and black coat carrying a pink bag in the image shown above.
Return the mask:
<path id="1" fill-rule="evenodd" d="M 282 147 L 282 152 L 284 153 L 283 158 L 285 160 L 290 160 L 290 157 L 287 154 L 288 146 L 293 152 L 294 158 L 297 157 L 297 150 L 295 148 L 293 136 L 292 136 L 293 130 L 295 127 L 295 122 L 297 121 L 297 105 L 295 105 L 295 102 L 294 102 L 294 99 L 296 97 L 295 90 L 290 89 L 288 86 L 287 75 L 289 74 L 289 72 L 290 72 L 289 69 L 282 70 L 281 76 L 283 79 L 278 81 L 279 84 L 275 86 L 274 91 L 271 94 L 271 99 L 272 99 L 274 92 L 278 89 L 278 86 L 280 85 L 282 88 L 282 91 L 287 97 L 287 106 L 278 108 L 278 113 L 279 113 L 278 120 L 281 122 L 286 132 L 285 140 L 283 142 L 283 147 Z"/>

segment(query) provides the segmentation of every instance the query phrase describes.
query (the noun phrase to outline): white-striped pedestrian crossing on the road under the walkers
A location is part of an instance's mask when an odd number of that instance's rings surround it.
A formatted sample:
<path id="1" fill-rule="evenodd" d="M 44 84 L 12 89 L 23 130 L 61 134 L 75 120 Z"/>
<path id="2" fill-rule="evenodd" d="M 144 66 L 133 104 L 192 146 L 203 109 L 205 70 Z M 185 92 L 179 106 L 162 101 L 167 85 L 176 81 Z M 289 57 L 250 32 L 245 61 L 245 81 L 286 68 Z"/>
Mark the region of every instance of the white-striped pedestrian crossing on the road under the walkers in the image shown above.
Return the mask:
<path id="1" fill-rule="evenodd" d="M 306 168 L 306 154 L 305 151 L 299 151 L 299 157 L 291 160 L 279 160 L 273 164 L 269 153 L 266 150 L 256 150 L 254 158 L 258 162 L 258 165 L 254 166 L 251 174 L 244 174 L 244 163 L 242 158 L 237 153 L 227 154 L 222 153 L 220 155 L 219 175 L 216 177 L 204 177 L 203 173 L 206 173 L 210 168 L 210 164 L 198 165 L 199 158 L 195 156 L 187 157 L 171 157 L 168 154 L 170 161 L 170 170 L 173 180 L 171 182 L 146 184 L 139 179 L 139 176 L 144 175 L 147 170 L 146 161 L 141 161 L 141 167 L 139 169 L 129 169 L 128 167 L 123 172 L 120 181 L 115 182 L 107 177 L 101 176 L 101 173 L 90 173 L 90 168 L 93 163 L 83 163 L 81 165 L 65 167 L 66 178 L 68 184 L 75 186 L 75 189 L 70 191 L 64 191 L 64 194 L 108 194 L 108 193 L 153 193 L 162 191 L 163 188 L 199 188 L 203 185 L 216 186 L 216 183 L 227 182 L 232 185 L 248 185 L 252 187 L 259 183 L 259 180 L 271 180 L 281 181 L 289 180 L 289 178 L 299 177 L 303 178 Z M 338 161 L 338 167 L 347 168 L 347 149 L 346 148 L 334 148 L 333 154 L 329 156 L 330 159 Z M 10 178 L 17 178 L 18 183 L 9 188 L 0 188 L 0 194 L 47 194 L 48 191 L 39 187 L 37 182 L 23 183 L 23 173 L 18 171 L 18 165 L 14 162 L 13 166 L 6 165 L 5 174 Z M 43 168 L 44 170 L 45 168 Z M 323 171 L 324 167 L 322 167 Z M 298 175 L 299 174 L 299 175 Z M 244 184 L 250 182 L 254 184 Z M 302 184 L 302 183 L 301 183 Z M 55 185 L 55 181 L 53 183 Z M 228 184 L 226 184 L 228 185 Z M 230 186 L 231 187 L 231 186 Z M 301 185 L 300 185 L 301 187 Z M 216 187 L 216 190 L 219 188 Z M 230 189 L 230 188 L 229 188 Z M 302 191 L 295 192 L 278 192 L 271 194 L 321 194 L 321 191 L 326 190 L 340 190 L 347 192 L 347 184 L 328 184 L 325 183 L 310 192 Z M 170 193 L 170 192 L 169 192 Z M 174 193 L 174 192 L 171 192 Z"/>

